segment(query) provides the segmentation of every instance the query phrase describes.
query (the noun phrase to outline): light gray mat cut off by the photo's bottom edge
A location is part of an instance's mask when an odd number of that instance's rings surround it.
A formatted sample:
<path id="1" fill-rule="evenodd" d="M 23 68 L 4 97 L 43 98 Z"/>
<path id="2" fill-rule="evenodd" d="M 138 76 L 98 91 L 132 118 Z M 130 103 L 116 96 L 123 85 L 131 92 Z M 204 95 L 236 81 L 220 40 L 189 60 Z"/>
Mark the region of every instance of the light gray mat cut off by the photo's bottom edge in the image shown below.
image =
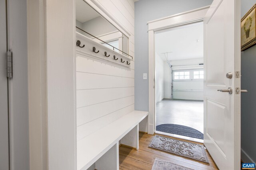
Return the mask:
<path id="1" fill-rule="evenodd" d="M 177 165 L 172 162 L 168 162 L 166 160 L 156 158 L 151 170 L 193 170 L 193 169 L 186 168 L 184 166 Z"/>

